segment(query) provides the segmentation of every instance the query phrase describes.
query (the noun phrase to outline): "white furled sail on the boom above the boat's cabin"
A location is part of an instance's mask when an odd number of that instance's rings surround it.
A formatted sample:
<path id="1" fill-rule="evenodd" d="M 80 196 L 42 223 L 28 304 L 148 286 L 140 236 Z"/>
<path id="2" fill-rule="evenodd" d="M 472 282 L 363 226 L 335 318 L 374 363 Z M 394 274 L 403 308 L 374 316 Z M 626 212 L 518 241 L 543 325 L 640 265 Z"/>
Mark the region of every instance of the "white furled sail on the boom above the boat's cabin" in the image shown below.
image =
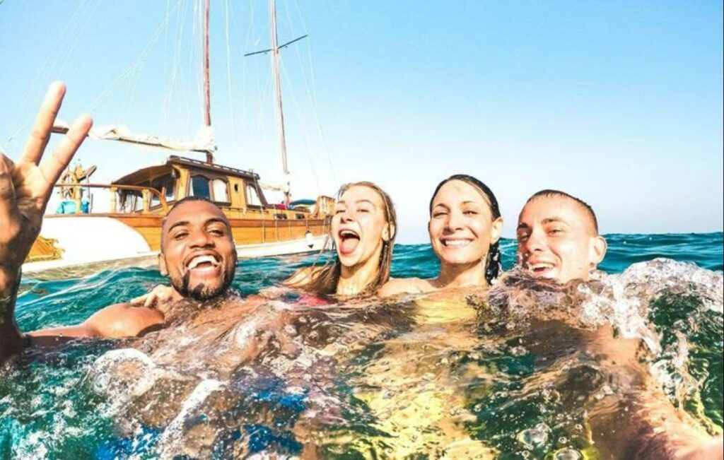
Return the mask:
<path id="1" fill-rule="evenodd" d="M 53 125 L 53 132 L 68 132 L 70 124 L 63 120 L 56 120 Z M 167 137 L 135 134 L 125 124 L 104 125 L 90 129 L 88 137 L 91 139 L 117 140 L 119 142 L 130 142 L 133 144 L 145 145 L 148 147 L 177 150 L 181 152 L 215 152 L 216 142 L 214 139 L 214 128 L 202 126 L 198 129 L 196 137 L 191 142 L 168 139 Z"/>

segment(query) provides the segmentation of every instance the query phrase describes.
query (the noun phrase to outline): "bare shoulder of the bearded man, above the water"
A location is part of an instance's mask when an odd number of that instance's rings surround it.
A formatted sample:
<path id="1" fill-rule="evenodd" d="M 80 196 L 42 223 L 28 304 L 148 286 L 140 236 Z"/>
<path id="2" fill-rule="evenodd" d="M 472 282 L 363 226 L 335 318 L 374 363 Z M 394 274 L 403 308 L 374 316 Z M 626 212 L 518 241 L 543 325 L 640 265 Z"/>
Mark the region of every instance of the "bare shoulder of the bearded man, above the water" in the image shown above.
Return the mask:
<path id="1" fill-rule="evenodd" d="M 122 303 L 98 310 L 83 324 L 96 336 L 117 338 L 138 336 L 163 323 L 164 314 L 159 310 Z"/>

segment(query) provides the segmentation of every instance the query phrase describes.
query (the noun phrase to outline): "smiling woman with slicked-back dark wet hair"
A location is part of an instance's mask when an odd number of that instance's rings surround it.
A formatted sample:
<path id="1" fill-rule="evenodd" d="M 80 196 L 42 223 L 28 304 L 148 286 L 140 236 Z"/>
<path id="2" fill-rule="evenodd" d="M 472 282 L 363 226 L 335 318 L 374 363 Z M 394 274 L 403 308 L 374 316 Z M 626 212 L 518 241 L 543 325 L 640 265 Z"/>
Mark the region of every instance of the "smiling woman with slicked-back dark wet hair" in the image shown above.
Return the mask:
<path id="1" fill-rule="evenodd" d="M 440 260 L 436 278 L 397 278 L 382 297 L 442 289 L 487 288 L 500 273 L 498 240 L 502 217 L 495 195 L 483 182 L 455 174 L 440 182 L 430 200 L 430 244 Z"/>

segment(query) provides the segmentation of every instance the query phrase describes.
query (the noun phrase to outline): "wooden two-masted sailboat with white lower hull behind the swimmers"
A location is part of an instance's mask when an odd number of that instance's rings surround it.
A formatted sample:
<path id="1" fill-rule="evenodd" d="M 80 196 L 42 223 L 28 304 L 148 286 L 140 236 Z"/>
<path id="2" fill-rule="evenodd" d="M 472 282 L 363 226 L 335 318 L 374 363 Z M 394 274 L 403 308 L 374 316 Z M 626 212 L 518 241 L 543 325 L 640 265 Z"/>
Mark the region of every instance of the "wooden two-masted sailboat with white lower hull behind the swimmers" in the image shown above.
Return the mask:
<path id="1" fill-rule="evenodd" d="M 210 132 L 209 0 L 205 7 L 204 124 Z M 272 43 L 267 51 L 271 51 L 277 91 L 282 166 L 288 176 L 274 0 L 270 9 Z M 66 131 L 62 122 L 54 127 L 54 132 Z M 258 174 L 215 163 L 216 147 L 208 139 L 174 142 L 114 129 L 96 133 L 96 137 L 203 153 L 205 158 L 169 156 L 164 163 L 137 169 L 109 184 L 90 182 L 93 171 L 80 166 L 67 171 L 56 184 L 61 205 L 55 213 L 46 214 L 40 237 L 22 266 L 26 275 L 65 278 L 101 267 L 155 263 L 161 244 L 161 221 L 174 202 L 188 196 L 207 197 L 224 210 L 240 257 L 310 252 L 321 250 L 324 245 L 334 208 L 332 197 L 290 202 L 287 182 L 281 188 L 287 197 L 285 202 L 269 203 Z M 94 210 L 100 207 L 98 195 L 106 195 L 109 200 L 102 212 Z"/>

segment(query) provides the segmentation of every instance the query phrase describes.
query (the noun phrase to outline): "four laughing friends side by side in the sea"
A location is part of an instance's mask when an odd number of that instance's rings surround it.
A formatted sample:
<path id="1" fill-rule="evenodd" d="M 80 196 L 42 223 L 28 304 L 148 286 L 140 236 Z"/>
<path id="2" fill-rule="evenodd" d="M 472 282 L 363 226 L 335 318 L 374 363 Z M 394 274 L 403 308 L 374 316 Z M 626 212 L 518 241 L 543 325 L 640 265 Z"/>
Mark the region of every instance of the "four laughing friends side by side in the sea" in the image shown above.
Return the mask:
<path id="1" fill-rule="evenodd" d="M 22 263 L 38 236 L 56 180 L 92 124 L 88 116 L 78 118 L 50 157 L 41 162 L 64 93 L 64 85 L 51 85 L 18 161 L 0 154 L 0 362 L 9 361 L 25 347 L 56 344 L 67 338 L 121 338 L 157 331 L 168 323 L 166 305 L 180 300 L 211 304 L 227 296 L 237 267 L 227 217 L 209 200 L 187 197 L 174 204 L 161 232 L 159 269 L 168 276 L 169 287 L 105 307 L 77 325 L 28 333 L 18 330 L 14 304 Z M 338 194 L 331 223 L 336 255 L 327 263 L 302 268 L 285 286 L 319 299 L 316 305 L 324 309 L 329 302 L 366 298 L 484 296 L 500 282 L 503 219 L 494 193 L 483 182 L 466 174 L 440 182 L 429 202 L 428 228 L 440 263 L 438 275 L 391 278 L 397 234 L 392 199 L 372 182 L 346 184 Z M 518 270 L 530 278 L 570 286 L 602 276 L 597 265 L 605 256 L 606 241 L 599 235 L 592 208 L 573 195 L 552 189 L 531 195 L 518 217 L 516 235 Z M 269 297 L 274 294 L 262 292 L 243 302 L 264 304 Z M 612 369 L 618 369 L 612 372 L 642 367 L 636 362 L 638 343 L 622 345 L 610 328 L 600 328 L 593 336 L 591 346 L 611 362 Z M 641 403 L 641 417 L 631 422 L 631 430 L 622 427 L 621 433 L 635 444 L 628 451 L 631 456 L 722 458 L 721 438 L 709 438 L 672 404 L 662 406 L 666 404 L 668 401 L 655 401 L 658 407 L 652 412 Z"/>

